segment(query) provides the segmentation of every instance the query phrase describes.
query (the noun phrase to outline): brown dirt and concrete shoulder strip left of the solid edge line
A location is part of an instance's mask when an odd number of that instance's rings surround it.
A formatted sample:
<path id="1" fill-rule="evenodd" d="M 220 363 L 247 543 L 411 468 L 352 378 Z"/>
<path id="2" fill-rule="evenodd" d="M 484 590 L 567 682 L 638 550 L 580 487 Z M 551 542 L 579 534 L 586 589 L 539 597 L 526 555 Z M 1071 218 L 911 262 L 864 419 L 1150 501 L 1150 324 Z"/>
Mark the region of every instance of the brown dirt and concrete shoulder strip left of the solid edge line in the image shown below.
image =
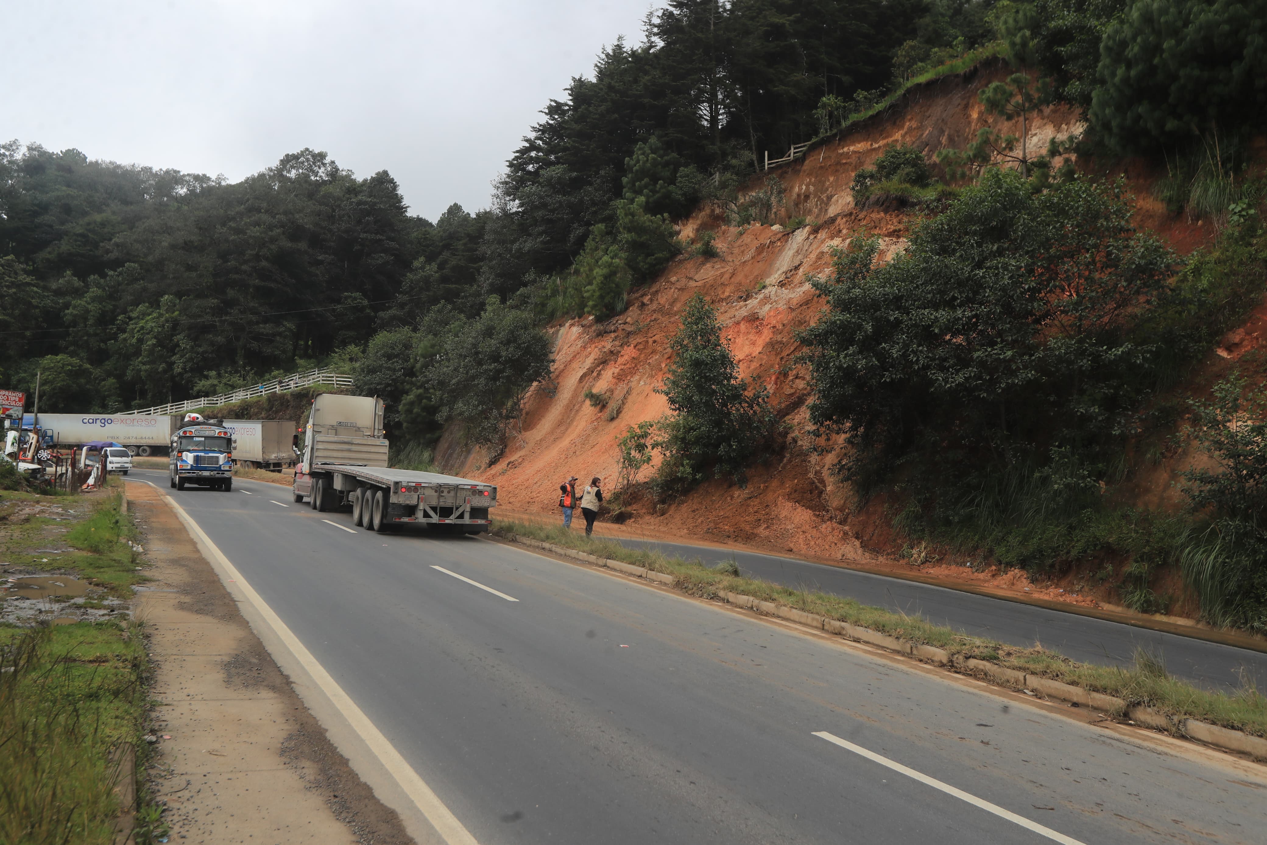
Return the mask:
<path id="1" fill-rule="evenodd" d="M 129 483 L 128 495 L 153 562 L 136 617 L 155 664 L 148 777 L 170 841 L 412 842 L 304 708 L 161 492 Z"/>

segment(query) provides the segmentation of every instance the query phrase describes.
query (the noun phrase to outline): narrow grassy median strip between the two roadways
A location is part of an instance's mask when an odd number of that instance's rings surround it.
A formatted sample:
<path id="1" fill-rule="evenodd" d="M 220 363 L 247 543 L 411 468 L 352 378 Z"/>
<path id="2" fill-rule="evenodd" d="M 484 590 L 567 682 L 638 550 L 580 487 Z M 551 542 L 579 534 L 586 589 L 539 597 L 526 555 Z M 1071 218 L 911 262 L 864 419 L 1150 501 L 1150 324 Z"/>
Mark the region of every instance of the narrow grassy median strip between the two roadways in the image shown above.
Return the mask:
<path id="1" fill-rule="evenodd" d="M 587 538 L 561 526 L 542 526 L 498 519 L 493 533 L 499 537 L 531 537 L 599 557 L 620 560 L 653 571 L 673 575 L 675 587 L 699 598 L 720 598 L 739 593 L 763 602 L 783 604 L 807 613 L 840 619 L 879 631 L 908 642 L 944 649 L 958 659 L 974 658 L 1052 678 L 1067 684 L 1116 696 L 1128 704 L 1145 704 L 1176 717 L 1190 717 L 1211 725 L 1267 736 L 1267 697 L 1247 680 L 1235 693 L 1211 692 L 1171 678 L 1164 668 L 1139 654 L 1133 668 L 1096 666 L 1076 663 L 1043 647 L 1019 649 L 995 640 L 972 637 L 933 625 L 917 616 L 870 607 L 851 598 L 811 590 L 794 590 L 769 581 L 745 578 L 737 566 L 704 566 L 699 560 L 670 557 L 658 551 L 626 549 L 613 540 Z"/>

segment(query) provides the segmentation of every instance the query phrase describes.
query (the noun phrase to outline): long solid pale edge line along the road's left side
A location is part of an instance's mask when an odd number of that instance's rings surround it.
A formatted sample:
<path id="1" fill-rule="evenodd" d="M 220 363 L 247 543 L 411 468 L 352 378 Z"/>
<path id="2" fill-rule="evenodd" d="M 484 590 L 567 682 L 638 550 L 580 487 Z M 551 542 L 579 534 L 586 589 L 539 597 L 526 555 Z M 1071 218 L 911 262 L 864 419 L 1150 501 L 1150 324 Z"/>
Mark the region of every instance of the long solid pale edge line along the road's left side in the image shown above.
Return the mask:
<path id="1" fill-rule="evenodd" d="M 141 479 L 138 479 L 141 480 Z M 151 486 L 156 488 L 158 485 L 146 481 Z M 378 758 L 379 763 L 383 764 L 392 777 L 399 784 L 400 789 L 409 797 L 411 801 L 418 807 L 419 812 L 426 816 L 427 821 L 431 822 L 436 832 L 440 834 L 441 839 L 449 845 L 479 845 L 470 831 L 457 820 L 449 807 L 440 799 L 427 782 L 423 780 L 413 766 L 400 755 L 399 751 L 392 745 L 388 737 L 383 736 L 383 732 L 374 726 L 374 722 L 356 706 L 356 702 L 343 692 L 342 687 L 331 677 L 326 668 L 317 661 L 317 658 L 304 647 L 304 644 L 299 641 L 299 637 L 291 632 L 286 623 L 281 621 L 271 607 L 255 592 L 242 578 L 242 574 L 237 568 L 224 556 L 224 552 L 212 542 L 212 538 L 199 527 L 196 522 L 190 518 L 185 509 L 180 507 L 175 499 L 170 495 L 163 494 L 163 499 L 167 504 L 176 512 L 181 522 L 189 528 L 191 533 L 198 538 L 204 547 L 212 552 L 224 573 L 234 580 L 234 587 L 246 597 L 251 606 L 257 613 L 267 622 L 269 627 L 277 639 L 286 646 L 295 660 L 312 675 L 313 680 L 321 687 L 321 690 L 329 698 L 331 703 L 338 708 L 340 713 L 347 722 L 352 726 L 352 730 L 361 737 L 361 740 L 369 746 L 370 751 Z"/>

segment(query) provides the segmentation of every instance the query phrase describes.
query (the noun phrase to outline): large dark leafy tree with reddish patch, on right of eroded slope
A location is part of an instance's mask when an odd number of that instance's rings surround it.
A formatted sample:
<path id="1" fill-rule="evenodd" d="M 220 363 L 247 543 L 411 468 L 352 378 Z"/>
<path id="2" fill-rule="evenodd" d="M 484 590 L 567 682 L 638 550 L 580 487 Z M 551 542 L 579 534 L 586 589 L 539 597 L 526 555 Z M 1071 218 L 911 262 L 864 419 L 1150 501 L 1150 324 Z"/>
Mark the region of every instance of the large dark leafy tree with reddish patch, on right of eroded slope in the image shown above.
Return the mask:
<path id="1" fill-rule="evenodd" d="M 1152 361 L 1130 329 L 1175 261 L 1129 217 L 1112 185 L 1035 194 L 990 171 L 884 266 L 878 241 L 855 237 L 815 280 L 827 310 L 799 333 L 810 417 L 848 435 L 846 476 L 911 460 L 962 476 L 952 467 L 1116 442 Z"/>

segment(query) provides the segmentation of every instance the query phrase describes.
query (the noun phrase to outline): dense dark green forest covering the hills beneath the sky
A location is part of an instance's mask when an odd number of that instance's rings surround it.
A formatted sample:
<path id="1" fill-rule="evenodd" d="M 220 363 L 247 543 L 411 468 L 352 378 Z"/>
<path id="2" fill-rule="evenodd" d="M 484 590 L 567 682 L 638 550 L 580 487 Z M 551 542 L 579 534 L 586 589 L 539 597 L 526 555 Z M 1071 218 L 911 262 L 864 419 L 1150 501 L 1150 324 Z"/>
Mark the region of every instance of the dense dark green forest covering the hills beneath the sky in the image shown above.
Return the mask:
<path id="1" fill-rule="evenodd" d="M 435 222 L 408 213 L 386 171 L 357 177 L 312 149 L 229 184 L 5 143 L 0 380 L 29 390 L 39 370 L 47 410 L 118 410 L 334 362 L 435 436 L 488 417 L 446 393 L 437 365 L 470 332 L 504 333 L 521 312 L 620 312 L 683 248 L 673 218 L 701 200 L 763 215 L 737 193 L 763 151 L 1017 30 L 1101 148 L 1168 149 L 1200 170 L 1192 138 L 1215 132 L 1235 166 L 1237 133 L 1267 114 L 1262 5 L 670 0 L 639 46 L 616 39 L 542 109 L 488 209 Z"/>

